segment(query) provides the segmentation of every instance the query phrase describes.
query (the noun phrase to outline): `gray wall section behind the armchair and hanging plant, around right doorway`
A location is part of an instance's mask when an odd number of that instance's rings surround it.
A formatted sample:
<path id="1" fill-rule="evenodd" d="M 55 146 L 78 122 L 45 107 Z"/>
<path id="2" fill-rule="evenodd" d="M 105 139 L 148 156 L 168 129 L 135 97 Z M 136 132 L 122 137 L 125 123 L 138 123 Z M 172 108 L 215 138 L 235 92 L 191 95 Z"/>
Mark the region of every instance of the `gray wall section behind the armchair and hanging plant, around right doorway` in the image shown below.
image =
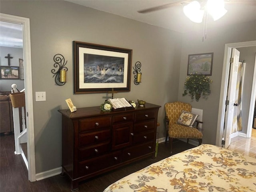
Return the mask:
<path id="1" fill-rule="evenodd" d="M 224 59 L 225 44 L 256 40 L 256 22 L 245 22 L 226 28 L 209 28 L 207 39 L 202 42 L 202 31 L 184 34 L 180 62 L 180 84 L 178 100 L 190 102 L 192 107 L 203 110 L 203 143 L 215 144 L 220 102 L 220 86 Z M 187 74 L 188 54 L 213 52 L 211 94 L 207 100 L 191 101 L 189 96 L 182 96 Z"/>

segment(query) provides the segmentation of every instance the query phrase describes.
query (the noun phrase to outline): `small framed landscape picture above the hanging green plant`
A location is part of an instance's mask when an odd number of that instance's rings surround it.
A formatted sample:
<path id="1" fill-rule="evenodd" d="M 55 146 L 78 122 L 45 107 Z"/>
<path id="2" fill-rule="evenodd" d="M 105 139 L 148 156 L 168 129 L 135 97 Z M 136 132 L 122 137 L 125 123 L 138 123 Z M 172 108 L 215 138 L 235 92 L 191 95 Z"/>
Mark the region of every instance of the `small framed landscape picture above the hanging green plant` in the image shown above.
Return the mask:
<path id="1" fill-rule="evenodd" d="M 188 55 L 188 70 L 187 75 L 196 73 L 205 76 L 212 75 L 212 60 L 213 53 L 201 53 Z"/>

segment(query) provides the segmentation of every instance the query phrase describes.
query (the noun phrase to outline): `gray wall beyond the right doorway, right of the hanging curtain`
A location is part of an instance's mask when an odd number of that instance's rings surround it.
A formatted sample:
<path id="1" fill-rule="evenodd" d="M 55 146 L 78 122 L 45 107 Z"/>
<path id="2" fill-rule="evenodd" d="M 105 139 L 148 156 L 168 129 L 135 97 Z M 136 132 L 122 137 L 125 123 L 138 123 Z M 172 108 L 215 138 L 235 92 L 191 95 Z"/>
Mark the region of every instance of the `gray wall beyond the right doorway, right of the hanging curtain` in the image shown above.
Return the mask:
<path id="1" fill-rule="evenodd" d="M 239 59 L 246 61 L 246 67 L 244 72 L 244 85 L 243 85 L 243 93 L 242 93 L 242 131 L 241 131 L 242 133 L 246 134 L 247 126 L 248 126 L 250 98 L 251 98 L 251 92 L 252 92 L 252 79 L 253 79 L 253 71 L 254 71 L 256 46 L 237 48 L 237 50 L 240 51 Z"/>

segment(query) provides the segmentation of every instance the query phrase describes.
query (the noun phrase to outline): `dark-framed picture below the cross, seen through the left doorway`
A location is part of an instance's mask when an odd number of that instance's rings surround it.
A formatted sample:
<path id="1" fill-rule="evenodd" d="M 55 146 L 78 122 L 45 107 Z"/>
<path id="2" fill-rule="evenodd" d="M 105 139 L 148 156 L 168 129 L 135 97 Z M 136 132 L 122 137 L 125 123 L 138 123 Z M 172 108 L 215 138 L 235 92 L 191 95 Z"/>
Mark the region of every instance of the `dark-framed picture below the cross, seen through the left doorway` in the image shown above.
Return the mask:
<path id="1" fill-rule="evenodd" d="M 0 79 L 20 79 L 20 69 L 14 66 L 0 66 Z"/>

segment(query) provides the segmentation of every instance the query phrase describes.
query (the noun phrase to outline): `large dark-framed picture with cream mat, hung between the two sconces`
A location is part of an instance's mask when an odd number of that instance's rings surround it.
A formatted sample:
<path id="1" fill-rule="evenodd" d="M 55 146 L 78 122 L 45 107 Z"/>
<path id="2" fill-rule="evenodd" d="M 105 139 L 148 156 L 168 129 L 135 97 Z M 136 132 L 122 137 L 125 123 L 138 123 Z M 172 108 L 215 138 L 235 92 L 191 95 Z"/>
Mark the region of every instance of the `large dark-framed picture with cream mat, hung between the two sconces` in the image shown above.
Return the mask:
<path id="1" fill-rule="evenodd" d="M 129 92 L 132 50 L 73 41 L 74 93 Z"/>

